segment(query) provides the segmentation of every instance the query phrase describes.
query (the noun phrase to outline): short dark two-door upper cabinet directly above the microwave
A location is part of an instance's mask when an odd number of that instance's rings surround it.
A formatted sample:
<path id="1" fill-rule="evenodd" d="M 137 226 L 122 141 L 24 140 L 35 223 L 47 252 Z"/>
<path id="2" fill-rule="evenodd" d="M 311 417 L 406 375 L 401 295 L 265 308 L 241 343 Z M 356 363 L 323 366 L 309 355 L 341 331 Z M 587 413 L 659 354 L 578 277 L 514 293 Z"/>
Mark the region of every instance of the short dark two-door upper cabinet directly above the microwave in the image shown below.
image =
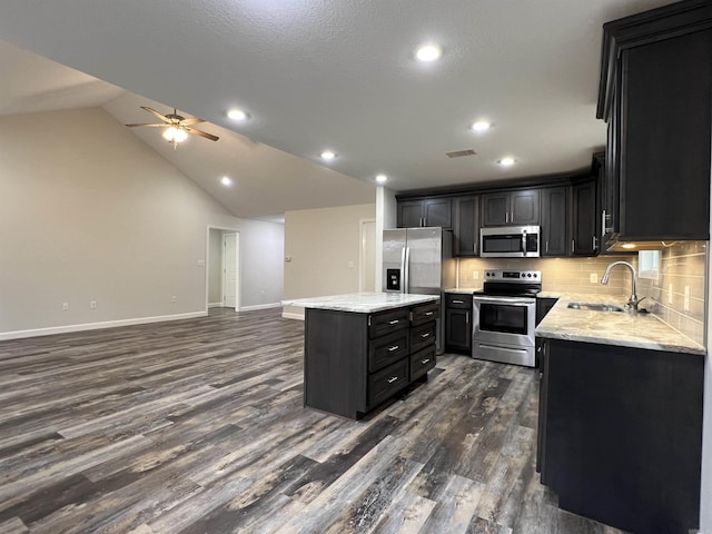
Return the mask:
<path id="1" fill-rule="evenodd" d="M 538 225 L 540 190 L 521 189 L 482 196 L 482 226 Z"/>

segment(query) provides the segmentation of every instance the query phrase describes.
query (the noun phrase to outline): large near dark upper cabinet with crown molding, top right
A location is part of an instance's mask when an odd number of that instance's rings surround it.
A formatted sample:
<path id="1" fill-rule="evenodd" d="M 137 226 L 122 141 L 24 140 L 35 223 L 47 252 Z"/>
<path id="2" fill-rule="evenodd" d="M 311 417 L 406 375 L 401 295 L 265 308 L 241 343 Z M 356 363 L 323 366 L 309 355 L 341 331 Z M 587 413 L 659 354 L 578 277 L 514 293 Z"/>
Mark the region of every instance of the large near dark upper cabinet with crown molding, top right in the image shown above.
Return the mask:
<path id="1" fill-rule="evenodd" d="M 709 239 L 712 2 L 609 22 L 603 42 L 606 227 L 621 240 Z"/>

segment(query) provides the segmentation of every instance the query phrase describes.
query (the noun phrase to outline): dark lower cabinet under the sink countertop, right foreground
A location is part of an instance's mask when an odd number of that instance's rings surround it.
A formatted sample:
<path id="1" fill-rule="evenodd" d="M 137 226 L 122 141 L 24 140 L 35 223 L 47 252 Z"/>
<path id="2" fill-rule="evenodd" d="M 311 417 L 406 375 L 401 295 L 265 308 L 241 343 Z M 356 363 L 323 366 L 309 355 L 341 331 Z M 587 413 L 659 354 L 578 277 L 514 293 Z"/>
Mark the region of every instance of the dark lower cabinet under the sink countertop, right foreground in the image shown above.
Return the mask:
<path id="1" fill-rule="evenodd" d="M 558 506 L 635 533 L 696 532 L 704 356 L 538 340 L 537 464 Z"/>

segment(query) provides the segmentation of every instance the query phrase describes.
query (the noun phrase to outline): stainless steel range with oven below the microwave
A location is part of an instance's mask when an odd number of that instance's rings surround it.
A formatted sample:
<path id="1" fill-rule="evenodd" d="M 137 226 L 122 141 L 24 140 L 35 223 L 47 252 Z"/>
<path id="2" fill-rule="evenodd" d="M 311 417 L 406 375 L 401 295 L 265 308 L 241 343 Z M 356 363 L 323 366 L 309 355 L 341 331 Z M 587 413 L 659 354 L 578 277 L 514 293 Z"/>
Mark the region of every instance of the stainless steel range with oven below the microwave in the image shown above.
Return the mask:
<path id="1" fill-rule="evenodd" d="M 485 270 L 473 295 L 473 358 L 534 367 L 540 270 Z"/>

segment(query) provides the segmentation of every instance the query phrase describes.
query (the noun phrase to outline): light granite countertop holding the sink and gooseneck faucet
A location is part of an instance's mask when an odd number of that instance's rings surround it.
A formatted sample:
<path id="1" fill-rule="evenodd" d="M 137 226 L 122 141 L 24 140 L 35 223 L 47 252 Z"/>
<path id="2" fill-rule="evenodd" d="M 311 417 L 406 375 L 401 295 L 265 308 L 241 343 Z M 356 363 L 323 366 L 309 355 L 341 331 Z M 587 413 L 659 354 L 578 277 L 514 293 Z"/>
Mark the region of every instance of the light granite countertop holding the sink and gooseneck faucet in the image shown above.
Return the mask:
<path id="1" fill-rule="evenodd" d="M 625 306 L 627 297 L 550 293 L 540 294 L 538 296 L 558 298 L 558 301 L 536 327 L 537 336 L 651 350 L 705 354 L 702 345 L 675 330 L 652 314 L 568 308 L 568 303 L 572 301 Z"/>

